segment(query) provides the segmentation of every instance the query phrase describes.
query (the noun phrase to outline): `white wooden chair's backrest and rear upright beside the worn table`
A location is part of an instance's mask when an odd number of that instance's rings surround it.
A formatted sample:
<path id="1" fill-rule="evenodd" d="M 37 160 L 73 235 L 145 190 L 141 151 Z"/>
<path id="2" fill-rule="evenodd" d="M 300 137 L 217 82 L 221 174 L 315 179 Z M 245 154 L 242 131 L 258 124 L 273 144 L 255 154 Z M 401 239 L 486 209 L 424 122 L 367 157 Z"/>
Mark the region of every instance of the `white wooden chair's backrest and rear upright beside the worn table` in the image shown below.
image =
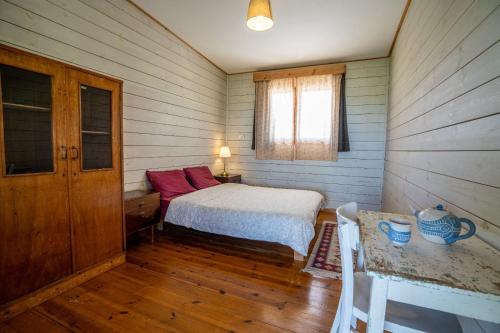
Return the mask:
<path id="1" fill-rule="evenodd" d="M 340 256 L 342 262 L 342 296 L 340 299 L 339 332 L 349 332 L 354 302 L 354 260 L 353 251 L 358 251 L 359 228 L 356 223 L 355 202 L 337 208 L 337 224 Z M 358 253 L 358 256 L 360 254 Z"/>

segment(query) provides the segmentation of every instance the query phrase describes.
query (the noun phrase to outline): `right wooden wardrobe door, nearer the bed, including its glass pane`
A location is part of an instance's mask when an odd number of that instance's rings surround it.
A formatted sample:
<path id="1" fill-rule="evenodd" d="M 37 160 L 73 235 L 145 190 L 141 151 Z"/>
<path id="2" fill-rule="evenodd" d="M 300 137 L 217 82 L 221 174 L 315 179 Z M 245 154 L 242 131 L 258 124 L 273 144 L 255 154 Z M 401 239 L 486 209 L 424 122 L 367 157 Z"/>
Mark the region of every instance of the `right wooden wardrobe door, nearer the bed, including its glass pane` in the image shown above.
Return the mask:
<path id="1" fill-rule="evenodd" d="M 121 83 L 68 70 L 74 268 L 123 251 Z"/>

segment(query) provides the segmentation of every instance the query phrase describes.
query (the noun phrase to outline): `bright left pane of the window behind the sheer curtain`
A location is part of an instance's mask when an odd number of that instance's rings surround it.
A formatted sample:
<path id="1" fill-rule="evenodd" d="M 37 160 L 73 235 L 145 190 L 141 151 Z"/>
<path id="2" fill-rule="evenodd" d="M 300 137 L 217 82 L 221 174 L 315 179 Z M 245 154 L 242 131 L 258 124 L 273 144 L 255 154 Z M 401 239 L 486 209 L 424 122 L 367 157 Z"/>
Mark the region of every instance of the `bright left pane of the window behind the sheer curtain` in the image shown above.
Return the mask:
<path id="1" fill-rule="evenodd" d="M 269 83 L 270 141 L 293 141 L 293 80 L 272 80 Z"/>

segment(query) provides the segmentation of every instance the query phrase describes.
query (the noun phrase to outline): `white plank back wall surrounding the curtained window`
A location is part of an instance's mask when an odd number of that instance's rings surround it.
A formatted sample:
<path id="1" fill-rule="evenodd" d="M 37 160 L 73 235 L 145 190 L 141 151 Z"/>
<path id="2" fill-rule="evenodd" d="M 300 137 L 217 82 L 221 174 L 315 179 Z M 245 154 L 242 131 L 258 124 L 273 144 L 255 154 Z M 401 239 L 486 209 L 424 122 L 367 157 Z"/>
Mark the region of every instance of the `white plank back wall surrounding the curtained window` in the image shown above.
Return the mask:
<path id="1" fill-rule="evenodd" d="M 347 64 L 347 122 L 351 152 L 336 162 L 261 161 L 251 150 L 255 85 L 252 74 L 228 77 L 230 172 L 252 185 L 317 190 L 327 206 L 357 201 L 380 209 L 387 113 L 388 59 Z"/>

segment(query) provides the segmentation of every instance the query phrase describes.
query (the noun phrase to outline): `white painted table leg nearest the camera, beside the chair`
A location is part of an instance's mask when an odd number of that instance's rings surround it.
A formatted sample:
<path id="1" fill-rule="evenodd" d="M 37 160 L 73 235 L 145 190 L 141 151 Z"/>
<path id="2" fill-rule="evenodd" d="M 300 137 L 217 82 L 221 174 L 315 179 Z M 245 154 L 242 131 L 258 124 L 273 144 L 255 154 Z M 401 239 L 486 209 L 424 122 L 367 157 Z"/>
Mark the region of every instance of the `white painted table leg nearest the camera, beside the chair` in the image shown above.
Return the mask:
<path id="1" fill-rule="evenodd" d="M 382 333 L 384 331 L 388 285 L 389 281 L 385 279 L 376 277 L 372 279 L 367 333 Z"/>

